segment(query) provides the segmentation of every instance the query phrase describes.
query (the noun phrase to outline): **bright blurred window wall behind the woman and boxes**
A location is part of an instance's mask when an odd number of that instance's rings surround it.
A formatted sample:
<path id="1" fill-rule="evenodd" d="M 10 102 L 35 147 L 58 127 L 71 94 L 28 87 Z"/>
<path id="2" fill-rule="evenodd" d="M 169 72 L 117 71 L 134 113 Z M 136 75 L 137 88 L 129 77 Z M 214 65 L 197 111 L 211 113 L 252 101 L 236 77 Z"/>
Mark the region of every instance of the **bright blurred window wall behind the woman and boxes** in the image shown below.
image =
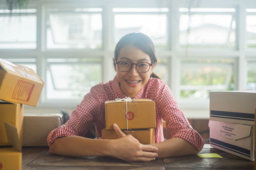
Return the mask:
<path id="1" fill-rule="evenodd" d="M 154 41 L 156 74 L 202 134 L 211 90 L 256 90 L 255 0 L 0 1 L 0 57 L 45 82 L 25 113 L 71 113 L 114 78 L 113 51 L 129 32 Z"/>

